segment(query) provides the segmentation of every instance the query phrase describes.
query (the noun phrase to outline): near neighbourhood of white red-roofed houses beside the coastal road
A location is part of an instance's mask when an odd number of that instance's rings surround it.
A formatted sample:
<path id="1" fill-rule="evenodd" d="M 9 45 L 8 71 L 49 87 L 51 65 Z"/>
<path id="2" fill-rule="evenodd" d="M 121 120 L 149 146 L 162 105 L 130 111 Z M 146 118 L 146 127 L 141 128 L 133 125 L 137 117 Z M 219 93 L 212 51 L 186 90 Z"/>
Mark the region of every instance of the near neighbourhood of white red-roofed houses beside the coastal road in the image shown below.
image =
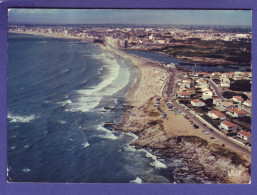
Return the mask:
<path id="1" fill-rule="evenodd" d="M 162 118 L 166 117 L 166 112 L 175 111 L 183 114 L 192 128 L 203 134 L 216 132 L 217 137 L 251 151 L 251 72 L 173 70 L 173 75 L 171 94 L 168 88 L 164 90 L 167 111 L 160 108 L 161 98 L 155 100 Z M 215 142 L 220 141 L 209 136 Z"/>

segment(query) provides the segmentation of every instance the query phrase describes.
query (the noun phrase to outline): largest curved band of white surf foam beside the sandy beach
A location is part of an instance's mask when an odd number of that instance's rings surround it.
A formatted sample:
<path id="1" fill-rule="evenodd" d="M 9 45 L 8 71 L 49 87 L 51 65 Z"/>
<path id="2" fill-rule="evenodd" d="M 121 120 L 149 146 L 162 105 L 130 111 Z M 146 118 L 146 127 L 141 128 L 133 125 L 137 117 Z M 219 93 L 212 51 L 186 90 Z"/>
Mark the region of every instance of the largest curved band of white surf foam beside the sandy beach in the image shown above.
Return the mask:
<path id="1" fill-rule="evenodd" d="M 78 97 L 66 108 L 66 111 L 88 112 L 97 107 L 103 97 L 115 94 L 128 84 L 128 70 L 125 68 L 120 70 L 120 64 L 112 54 L 102 53 L 93 57 L 102 61 L 106 74 L 101 77 L 102 81 L 97 85 L 77 90 Z M 98 71 L 101 72 L 101 68 Z"/>

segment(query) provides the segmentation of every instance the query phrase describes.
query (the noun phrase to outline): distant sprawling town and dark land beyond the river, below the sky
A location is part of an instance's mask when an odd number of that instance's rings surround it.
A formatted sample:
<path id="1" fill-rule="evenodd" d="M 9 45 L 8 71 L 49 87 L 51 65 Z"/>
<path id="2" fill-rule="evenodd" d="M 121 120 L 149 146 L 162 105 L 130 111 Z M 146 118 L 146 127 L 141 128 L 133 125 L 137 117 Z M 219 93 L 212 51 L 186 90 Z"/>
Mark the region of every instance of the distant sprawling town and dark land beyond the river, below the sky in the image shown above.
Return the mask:
<path id="1" fill-rule="evenodd" d="M 77 37 L 113 47 L 163 53 L 191 64 L 250 66 L 249 27 L 130 25 L 10 25 L 9 32 Z"/>

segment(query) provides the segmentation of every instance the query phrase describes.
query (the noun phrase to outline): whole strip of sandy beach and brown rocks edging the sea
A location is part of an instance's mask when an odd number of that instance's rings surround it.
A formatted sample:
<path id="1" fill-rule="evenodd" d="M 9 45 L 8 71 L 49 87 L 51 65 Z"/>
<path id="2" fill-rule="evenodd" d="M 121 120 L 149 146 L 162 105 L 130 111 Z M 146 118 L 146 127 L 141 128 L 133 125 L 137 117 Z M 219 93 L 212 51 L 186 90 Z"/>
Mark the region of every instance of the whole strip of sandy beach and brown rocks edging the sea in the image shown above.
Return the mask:
<path id="1" fill-rule="evenodd" d="M 80 39 L 90 42 L 90 40 L 80 37 L 57 34 L 34 32 L 22 32 L 21 34 Z M 217 151 L 222 148 L 210 140 L 203 139 L 204 137 L 195 132 L 182 115 L 169 112 L 167 117 L 169 120 L 161 119 L 160 113 L 154 107 L 154 99 L 162 98 L 161 105 L 165 105 L 162 89 L 165 85 L 164 81 L 169 76 L 165 68 L 156 65 L 157 62 L 152 60 L 127 54 L 108 45 L 98 45 L 103 50 L 130 60 L 139 70 L 139 78 L 128 92 L 127 98 L 131 108 L 125 111 L 122 120 L 115 127 L 137 134 L 139 138 L 132 143 L 136 148 L 150 148 L 168 158 L 182 157 L 193 170 L 192 173 L 210 178 L 218 183 L 249 182 L 249 174 L 247 175 L 247 170 L 241 166 L 241 163 L 236 166 L 229 159 L 218 154 Z M 177 142 L 178 138 L 181 139 L 179 143 Z M 241 170 L 242 173 L 240 177 L 235 174 L 238 170 Z"/>

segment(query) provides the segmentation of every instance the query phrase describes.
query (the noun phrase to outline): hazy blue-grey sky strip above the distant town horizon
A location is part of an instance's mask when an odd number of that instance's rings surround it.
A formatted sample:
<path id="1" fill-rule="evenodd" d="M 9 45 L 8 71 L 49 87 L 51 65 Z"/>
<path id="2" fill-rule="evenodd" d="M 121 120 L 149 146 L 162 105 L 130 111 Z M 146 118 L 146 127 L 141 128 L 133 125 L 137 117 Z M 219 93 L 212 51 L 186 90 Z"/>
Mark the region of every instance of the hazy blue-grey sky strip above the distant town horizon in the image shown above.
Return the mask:
<path id="1" fill-rule="evenodd" d="M 250 10 L 28 9 L 8 10 L 9 23 L 252 25 Z"/>

